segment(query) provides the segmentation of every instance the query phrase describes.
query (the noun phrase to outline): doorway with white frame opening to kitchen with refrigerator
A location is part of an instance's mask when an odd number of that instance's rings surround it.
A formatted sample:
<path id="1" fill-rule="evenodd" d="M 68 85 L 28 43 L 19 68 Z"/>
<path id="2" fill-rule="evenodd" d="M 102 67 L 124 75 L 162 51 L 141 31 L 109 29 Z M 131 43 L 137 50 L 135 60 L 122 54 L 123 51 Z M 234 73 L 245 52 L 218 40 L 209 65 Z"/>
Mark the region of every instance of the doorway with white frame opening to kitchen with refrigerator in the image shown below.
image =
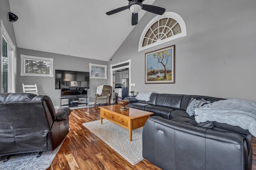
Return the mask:
<path id="1" fill-rule="evenodd" d="M 131 64 L 130 60 L 122 63 L 111 64 L 111 86 L 113 89 L 112 103 L 123 100 L 130 95 L 131 89 Z"/>

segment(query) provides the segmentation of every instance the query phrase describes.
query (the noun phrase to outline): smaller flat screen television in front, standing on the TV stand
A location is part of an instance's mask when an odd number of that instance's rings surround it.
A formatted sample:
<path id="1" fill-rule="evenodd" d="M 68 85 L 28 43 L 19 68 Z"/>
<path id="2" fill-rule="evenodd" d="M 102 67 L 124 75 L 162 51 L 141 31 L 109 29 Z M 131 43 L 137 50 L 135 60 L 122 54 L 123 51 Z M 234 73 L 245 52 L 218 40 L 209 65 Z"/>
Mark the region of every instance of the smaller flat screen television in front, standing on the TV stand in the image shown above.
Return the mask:
<path id="1" fill-rule="evenodd" d="M 87 83 L 80 81 L 61 81 L 61 97 L 87 96 Z"/>

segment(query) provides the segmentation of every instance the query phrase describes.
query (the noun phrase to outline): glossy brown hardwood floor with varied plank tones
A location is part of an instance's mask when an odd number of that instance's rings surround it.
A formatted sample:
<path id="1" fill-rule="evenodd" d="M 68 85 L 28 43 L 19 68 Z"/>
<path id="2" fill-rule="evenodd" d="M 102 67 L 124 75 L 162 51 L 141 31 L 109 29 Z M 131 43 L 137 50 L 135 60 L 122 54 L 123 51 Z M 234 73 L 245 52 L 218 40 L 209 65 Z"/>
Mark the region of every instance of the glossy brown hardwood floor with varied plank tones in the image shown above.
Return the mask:
<path id="1" fill-rule="evenodd" d="M 116 151 L 108 147 L 82 123 L 100 119 L 100 109 L 89 107 L 72 109 L 69 117 L 70 133 L 60 147 L 48 170 L 159 170 L 146 160 L 132 166 Z M 256 170 L 256 139 L 252 139 L 252 170 Z"/>

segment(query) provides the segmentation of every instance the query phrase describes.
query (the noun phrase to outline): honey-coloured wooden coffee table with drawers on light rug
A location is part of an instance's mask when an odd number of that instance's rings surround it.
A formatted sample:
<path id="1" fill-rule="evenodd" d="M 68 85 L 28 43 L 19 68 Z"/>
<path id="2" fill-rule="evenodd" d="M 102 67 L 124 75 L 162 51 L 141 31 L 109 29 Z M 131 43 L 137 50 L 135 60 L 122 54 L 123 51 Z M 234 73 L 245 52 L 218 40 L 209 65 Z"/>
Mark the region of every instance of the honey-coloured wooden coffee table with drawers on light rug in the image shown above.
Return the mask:
<path id="1" fill-rule="evenodd" d="M 150 115 L 148 111 L 126 107 L 126 111 L 120 111 L 121 106 L 110 105 L 100 107 L 100 123 L 107 119 L 113 123 L 129 130 L 130 141 L 132 141 L 132 130 L 143 127 Z"/>

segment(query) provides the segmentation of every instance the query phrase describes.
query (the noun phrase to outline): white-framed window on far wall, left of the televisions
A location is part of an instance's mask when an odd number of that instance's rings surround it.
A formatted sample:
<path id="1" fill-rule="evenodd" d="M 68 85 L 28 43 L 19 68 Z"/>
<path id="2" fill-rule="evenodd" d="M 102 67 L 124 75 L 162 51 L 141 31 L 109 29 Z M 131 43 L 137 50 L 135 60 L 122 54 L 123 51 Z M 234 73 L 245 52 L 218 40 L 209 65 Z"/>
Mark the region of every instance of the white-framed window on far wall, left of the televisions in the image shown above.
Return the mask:
<path id="1" fill-rule="evenodd" d="M 53 59 L 20 55 L 20 76 L 53 77 Z"/>

